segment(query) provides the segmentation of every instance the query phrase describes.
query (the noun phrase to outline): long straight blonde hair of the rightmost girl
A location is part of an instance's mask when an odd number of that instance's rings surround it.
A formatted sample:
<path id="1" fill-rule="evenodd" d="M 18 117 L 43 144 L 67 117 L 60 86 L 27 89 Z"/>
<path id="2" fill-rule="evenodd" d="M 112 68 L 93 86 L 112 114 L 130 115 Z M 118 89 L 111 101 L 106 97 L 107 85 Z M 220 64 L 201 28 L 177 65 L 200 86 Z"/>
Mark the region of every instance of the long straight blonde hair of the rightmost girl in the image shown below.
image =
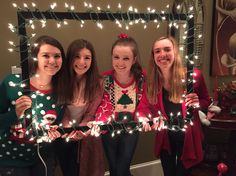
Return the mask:
<path id="1" fill-rule="evenodd" d="M 168 39 L 173 44 L 174 49 L 174 62 L 171 67 L 171 82 L 170 82 L 170 91 L 169 91 L 169 100 L 174 103 L 179 103 L 182 97 L 182 93 L 185 90 L 185 85 L 182 83 L 182 80 L 185 79 L 186 69 L 184 68 L 182 59 L 179 54 L 178 45 L 175 39 L 171 36 L 161 37 L 157 41 Z M 163 87 L 164 77 L 160 68 L 156 65 L 154 60 L 153 47 L 151 51 L 151 57 L 149 60 L 149 69 L 148 69 L 148 79 L 147 79 L 147 95 L 150 103 L 157 103 L 157 94 L 161 91 Z"/>

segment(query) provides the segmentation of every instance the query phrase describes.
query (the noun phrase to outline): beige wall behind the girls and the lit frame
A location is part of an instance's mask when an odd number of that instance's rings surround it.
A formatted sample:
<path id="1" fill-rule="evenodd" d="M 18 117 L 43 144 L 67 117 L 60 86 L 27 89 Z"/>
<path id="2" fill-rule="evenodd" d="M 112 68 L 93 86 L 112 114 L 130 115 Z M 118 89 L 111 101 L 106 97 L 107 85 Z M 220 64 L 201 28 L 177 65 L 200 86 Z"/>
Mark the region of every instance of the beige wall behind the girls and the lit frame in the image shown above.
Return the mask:
<path id="1" fill-rule="evenodd" d="M 0 6 L 0 80 L 6 74 L 10 73 L 10 68 L 12 65 L 19 65 L 19 53 L 9 53 L 8 41 L 12 40 L 15 43 L 18 43 L 18 38 L 14 33 L 11 33 L 8 29 L 8 23 L 17 24 L 16 9 L 11 5 L 13 1 L 2 1 Z M 18 5 L 22 6 L 23 2 L 21 0 L 14 0 Z M 31 2 L 25 0 L 24 2 Z M 35 0 L 34 1 L 40 10 L 47 10 L 49 4 L 54 2 L 50 0 Z M 60 2 L 60 3 L 59 3 Z M 68 0 L 69 4 L 75 5 L 76 9 L 84 11 L 82 1 L 78 0 Z M 153 7 L 156 9 L 165 8 L 166 1 L 162 0 L 119 0 L 119 1 L 110 1 L 110 0 L 90 0 L 94 7 L 100 6 L 105 9 L 107 4 L 110 4 L 113 11 L 117 10 L 118 2 L 121 2 L 123 8 L 127 9 L 130 5 L 139 9 L 139 12 L 146 11 L 147 7 Z M 204 1 L 204 10 L 205 10 L 205 26 L 204 26 L 204 57 L 202 59 L 202 71 L 205 75 L 207 86 L 209 91 L 212 91 L 213 88 L 213 78 L 209 76 L 210 68 L 210 50 L 211 50 L 211 18 L 212 18 L 212 4 L 213 0 Z M 64 1 L 58 0 L 58 11 L 64 11 Z M 37 24 L 37 23 L 36 23 Z M 110 48 L 112 42 L 116 39 L 117 35 L 121 32 L 126 32 L 129 35 L 133 36 L 138 44 L 141 53 L 141 63 L 144 67 L 147 66 L 147 60 L 150 55 L 151 44 L 155 38 L 166 33 L 166 25 L 162 25 L 160 29 L 156 29 L 155 25 L 148 25 L 146 30 L 143 29 L 143 25 L 135 25 L 126 31 L 115 26 L 114 23 L 104 22 L 104 29 L 100 30 L 96 27 L 93 22 L 86 22 L 84 28 L 80 28 L 77 22 L 69 21 L 69 26 L 64 26 L 61 29 L 57 29 L 54 22 L 49 22 L 47 28 L 41 29 L 37 28 L 37 35 L 47 34 L 56 37 L 63 43 L 65 49 L 68 44 L 77 38 L 85 38 L 91 41 L 97 52 L 97 59 L 99 62 L 99 68 L 101 71 L 107 70 L 110 68 Z M 37 27 L 38 25 L 36 25 Z M 225 79 L 224 77 L 220 78 L 221 80 Z M 232 79 L 232 78 L 229 78 Z M 136 155 L 134 157 L 134 163 L 141 163 L 145 161 L 154 160 L 153 156 L 153 133 L 141 134 L 139 145 L 136 150 Z"/>

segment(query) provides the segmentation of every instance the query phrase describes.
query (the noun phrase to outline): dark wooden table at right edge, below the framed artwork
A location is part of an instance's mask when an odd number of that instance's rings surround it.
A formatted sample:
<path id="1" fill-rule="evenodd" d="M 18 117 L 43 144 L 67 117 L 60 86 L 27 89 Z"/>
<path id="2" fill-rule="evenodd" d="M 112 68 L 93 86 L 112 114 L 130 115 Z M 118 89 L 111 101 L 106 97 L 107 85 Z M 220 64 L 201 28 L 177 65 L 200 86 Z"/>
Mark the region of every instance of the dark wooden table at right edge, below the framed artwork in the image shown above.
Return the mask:
<path id="1" fill-rule="evenodd" d="M 214 136 L 213 139 L 207 141 L 205 140 L 205 155 L 209 154 L 208 151 L 209 146 L 215 146 L 217 149 L 218 159 L 215 161 L 207 161 L 204 160 L 203 163 L 208 164 L 211 168 L 217 167 L 217 164 L 220 162 L 224 162 L 228 165 L 229 170 L 226 176 L 235 176 L 236 175 L 236 115 L 230 115 L 229 113 L 220 113 L 216 115 L 213 119 L 211 119 L 211 125 L 208 127 L 204 127 L 205 136 Z M 227 133 L 228 136 L 225 138 L 224 142 L 219 142 L 222 138 L 221 135 L 215 135 Z M 208 138 L 209 139 L 209 138 Z M 215 142 L 212 142 L 214 141 Z M 223 141 L 223 140 L 222 140 Z M 208 149 L 207 149 L 208 146 Z M 209 164 L 210 163 L 210 164 Z"/>

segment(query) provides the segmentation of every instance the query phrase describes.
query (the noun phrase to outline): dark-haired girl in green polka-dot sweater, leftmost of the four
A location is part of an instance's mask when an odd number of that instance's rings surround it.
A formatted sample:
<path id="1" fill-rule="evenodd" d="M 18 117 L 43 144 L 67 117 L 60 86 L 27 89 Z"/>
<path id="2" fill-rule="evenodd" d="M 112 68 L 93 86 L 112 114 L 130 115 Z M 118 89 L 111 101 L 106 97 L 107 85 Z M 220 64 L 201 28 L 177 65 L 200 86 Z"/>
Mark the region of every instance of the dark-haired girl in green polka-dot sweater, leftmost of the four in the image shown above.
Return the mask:
<path id="1" fill-rule="evenodd" d="M 60 134 L 48 130 L 61 121 L 63 109 L 56 105 L 55 95 L 65 54 L 56 39 L 41 36 L 35 41 L 31 56 L 28 95 L 23 95 L 20 75 L 8 75 L 0 84 L 1 176 L 54 173 L 54 152 L 47 142 Z"/>

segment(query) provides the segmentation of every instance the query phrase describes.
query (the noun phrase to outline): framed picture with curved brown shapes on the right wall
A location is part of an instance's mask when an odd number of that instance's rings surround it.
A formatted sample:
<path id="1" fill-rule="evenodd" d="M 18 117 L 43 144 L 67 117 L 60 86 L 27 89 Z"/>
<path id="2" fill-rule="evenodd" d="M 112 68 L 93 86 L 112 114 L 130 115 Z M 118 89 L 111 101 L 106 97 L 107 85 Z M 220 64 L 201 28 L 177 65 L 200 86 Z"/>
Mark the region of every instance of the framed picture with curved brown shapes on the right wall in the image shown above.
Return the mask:
<path id="1" fill-rule="evenodd" d="M 213 6 L 211 75 L 236 75 L 236 0 Z"/>

